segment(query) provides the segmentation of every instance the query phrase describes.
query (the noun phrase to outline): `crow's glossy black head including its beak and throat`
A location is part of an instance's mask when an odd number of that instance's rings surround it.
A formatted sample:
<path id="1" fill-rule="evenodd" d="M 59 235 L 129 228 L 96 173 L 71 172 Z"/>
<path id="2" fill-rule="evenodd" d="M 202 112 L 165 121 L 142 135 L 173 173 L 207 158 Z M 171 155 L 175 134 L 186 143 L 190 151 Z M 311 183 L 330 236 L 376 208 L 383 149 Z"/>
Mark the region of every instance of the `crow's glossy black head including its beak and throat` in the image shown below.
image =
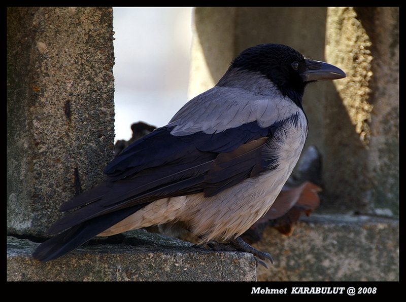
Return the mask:
<path id="1" fill-rule="evenodd" d="M 304 88 L 309 82 L 346 76 L 341 69 L 306 59 L 282 44 L 260 44 L 244 50 L 232 61 L 229 71 L 235 68 L 263 74 L 298 105 L 301 105 Z"/>

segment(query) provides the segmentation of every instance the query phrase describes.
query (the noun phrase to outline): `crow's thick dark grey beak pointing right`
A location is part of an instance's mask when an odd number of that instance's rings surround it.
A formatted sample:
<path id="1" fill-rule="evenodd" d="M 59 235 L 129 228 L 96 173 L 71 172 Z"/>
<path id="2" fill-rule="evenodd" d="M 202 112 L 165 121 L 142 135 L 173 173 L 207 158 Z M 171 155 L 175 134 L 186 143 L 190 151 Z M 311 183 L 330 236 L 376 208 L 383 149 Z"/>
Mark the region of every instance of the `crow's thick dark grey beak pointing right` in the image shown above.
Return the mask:
<path id="1" fill-rule="evenodd" d="M 307 69 L 300 73 L 303 82 L 337 80 L 347 77 L 347 74 L 334 65 L 306 59 Z"/>

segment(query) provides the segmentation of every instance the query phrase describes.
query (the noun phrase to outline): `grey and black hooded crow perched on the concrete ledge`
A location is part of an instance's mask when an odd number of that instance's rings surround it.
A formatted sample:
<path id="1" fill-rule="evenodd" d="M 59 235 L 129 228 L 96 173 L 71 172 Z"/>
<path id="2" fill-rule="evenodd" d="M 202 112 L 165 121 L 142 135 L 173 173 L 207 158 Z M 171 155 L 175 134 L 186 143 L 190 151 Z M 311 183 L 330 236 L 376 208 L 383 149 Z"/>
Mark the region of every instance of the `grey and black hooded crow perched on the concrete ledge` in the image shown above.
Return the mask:
<path id="1" fill-rule="evenodd" d="M 33 258 L 157 226 L 199 247 L 250 252 L 266 267 L 272 256 L 240 236 L 273 205 L 299 159 L 309 127 L 305 87 L 345 77 L 283 44 L 242 51 L 213 88 L 114 158 L 104 181 L 63 203 L 67 213 Z"/>

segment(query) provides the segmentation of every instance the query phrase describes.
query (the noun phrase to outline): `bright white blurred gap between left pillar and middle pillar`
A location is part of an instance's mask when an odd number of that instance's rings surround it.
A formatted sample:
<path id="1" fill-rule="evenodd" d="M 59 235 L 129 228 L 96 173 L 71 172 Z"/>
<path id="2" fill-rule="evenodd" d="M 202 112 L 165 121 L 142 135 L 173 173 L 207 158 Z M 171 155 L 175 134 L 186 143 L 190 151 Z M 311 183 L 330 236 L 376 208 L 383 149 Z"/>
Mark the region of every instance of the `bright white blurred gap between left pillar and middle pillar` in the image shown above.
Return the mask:
<path id="1" fill-rule="evenodd" d="M 192 8 L 113 8 L 116 140 L 164 126 L 188 101 Z"/>

